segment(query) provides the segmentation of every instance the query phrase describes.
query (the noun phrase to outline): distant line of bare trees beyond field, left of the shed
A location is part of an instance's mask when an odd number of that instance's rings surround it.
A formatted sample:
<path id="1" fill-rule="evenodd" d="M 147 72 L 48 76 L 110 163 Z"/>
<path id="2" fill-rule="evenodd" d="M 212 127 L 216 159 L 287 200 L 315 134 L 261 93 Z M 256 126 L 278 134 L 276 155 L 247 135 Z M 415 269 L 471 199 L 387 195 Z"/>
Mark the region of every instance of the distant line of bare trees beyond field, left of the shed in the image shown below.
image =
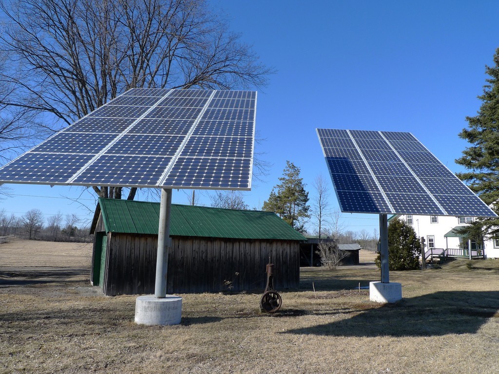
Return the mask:
<path id="1" fill-rule="evenodd" d="M 0 210 L 0 236 L 17 236 L 29 240 L 89 242 L 92 235 L 88 227 L 78 227 L 81 223 L 75 214 L 50 215 L 46 220 L 39 209 L 31 209 L 21 215 L 7 214 Z"/>

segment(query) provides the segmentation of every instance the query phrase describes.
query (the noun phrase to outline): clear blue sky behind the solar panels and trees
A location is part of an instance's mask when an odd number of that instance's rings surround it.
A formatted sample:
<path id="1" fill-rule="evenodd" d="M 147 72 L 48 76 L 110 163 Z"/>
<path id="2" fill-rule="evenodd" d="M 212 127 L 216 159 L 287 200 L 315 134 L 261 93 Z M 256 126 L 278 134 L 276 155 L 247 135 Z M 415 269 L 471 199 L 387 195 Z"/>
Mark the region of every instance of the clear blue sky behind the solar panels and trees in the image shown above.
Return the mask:
<path id="1" fill-rule="evenodd" d="M 256 152 L 272 163 L 266 183 L 245 192 L 260 208 L 286 160 L 301 168 L 310 197 L 322 174 L 330 184 L 315 128 L 408 131 L 453 171 L 467 143 L 458 138 L 466 116 L 480 108 L 485 65 L 499 47 L 498 1 L 229 1 L 212 0 L 233 31 L 274 67 L 258 91 Z M 338 203 L 332 185 L 330 205 Z M 53 214 L 89 210 L 81 187 L 10 185 L 7 212 Z M 188 191 L 188 193 L 190 193 Z M 210 199 L 202 196 L 201 203 Z M 34 195 L 34 197 L 29 197 Z M 40 197 L 52 196 L 52 197 Z M 80 201 L 93 208 L 91 193 Z M 174 190 L 173 202 L 186 203 Z M 370 233 L 377 215 L 343 213 L 346 229 Z"/>

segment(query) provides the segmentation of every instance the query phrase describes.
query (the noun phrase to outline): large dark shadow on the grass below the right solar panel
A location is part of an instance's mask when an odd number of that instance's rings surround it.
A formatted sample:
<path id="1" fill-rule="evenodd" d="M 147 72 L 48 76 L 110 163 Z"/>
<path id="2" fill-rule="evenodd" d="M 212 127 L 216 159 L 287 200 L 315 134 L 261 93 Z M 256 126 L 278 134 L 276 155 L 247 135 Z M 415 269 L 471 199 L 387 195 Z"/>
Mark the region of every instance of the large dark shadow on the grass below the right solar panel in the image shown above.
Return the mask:
<path id="1" fill-rule="evenodd" d="M 476 333 L 489 318 L 499 319 L 498 310 L 499 291 L 444 291 L 381 307 L 372 303 L 372 308 L 349 319 L 282 334 L 354 337 L 469 334 Z"/>

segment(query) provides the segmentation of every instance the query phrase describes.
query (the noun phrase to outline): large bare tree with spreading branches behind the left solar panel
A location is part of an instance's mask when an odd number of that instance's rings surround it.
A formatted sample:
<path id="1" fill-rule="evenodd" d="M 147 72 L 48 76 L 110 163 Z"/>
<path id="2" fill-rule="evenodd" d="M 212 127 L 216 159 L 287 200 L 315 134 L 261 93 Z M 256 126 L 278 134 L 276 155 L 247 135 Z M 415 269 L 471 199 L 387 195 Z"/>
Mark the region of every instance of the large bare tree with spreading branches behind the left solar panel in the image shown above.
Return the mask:
<path id="1" fill-rule="evenodd" d="M 0 0 L 0 50 L 10 67 L 0 85 L 14 93 L 0 104 L 50 114 L 60 125 L 133 87 L 266 85 L 272 69 L 208 9 L 205 0 Z"/>

